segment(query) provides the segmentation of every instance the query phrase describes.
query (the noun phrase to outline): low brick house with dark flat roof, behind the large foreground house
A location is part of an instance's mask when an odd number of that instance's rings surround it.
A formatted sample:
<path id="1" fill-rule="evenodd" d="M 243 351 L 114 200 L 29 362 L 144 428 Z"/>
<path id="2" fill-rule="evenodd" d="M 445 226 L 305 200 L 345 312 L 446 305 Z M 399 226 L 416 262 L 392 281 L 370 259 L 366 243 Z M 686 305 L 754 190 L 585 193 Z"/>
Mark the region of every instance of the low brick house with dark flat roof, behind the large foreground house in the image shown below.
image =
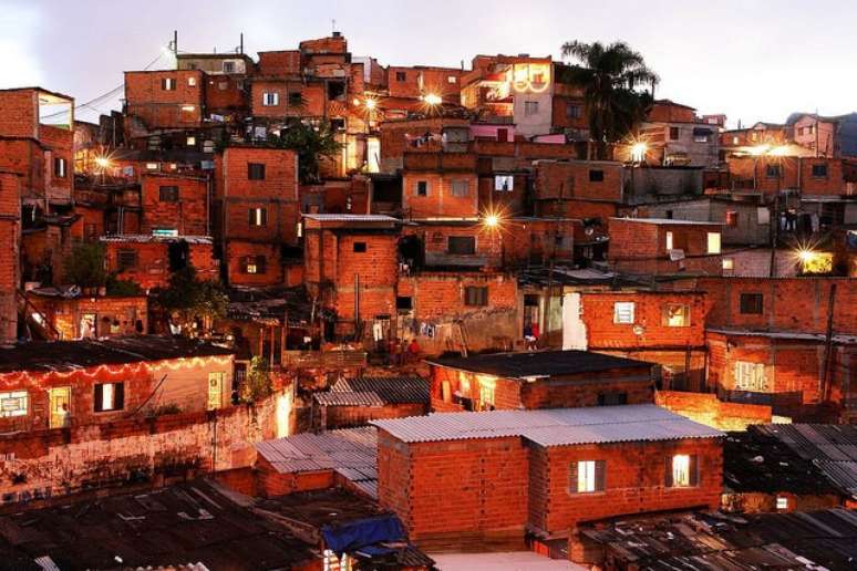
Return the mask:
<path id="1" fill-rule="evenodd" d="M 653 402 L 651 363 L 586 351 L 428 359 L 435 409 L 508 411 Z"/>

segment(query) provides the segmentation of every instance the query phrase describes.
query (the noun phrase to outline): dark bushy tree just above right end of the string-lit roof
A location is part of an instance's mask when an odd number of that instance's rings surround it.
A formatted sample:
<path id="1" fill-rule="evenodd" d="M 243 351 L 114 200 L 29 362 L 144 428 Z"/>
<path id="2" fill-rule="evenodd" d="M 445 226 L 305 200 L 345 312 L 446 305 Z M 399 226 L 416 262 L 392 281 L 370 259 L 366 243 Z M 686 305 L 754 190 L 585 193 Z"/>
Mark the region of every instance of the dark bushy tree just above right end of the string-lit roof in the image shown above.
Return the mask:
<path id="1" fill-rule="evenodd" d="M 158 304 L 168 313 L 177 313 L 182 324 L 200 318 L 210 323 L 226 315 L 226 292 L 217 281 L 200 280 L 193 266 L 173 272 L 169 286 L 157 297 Z"/>

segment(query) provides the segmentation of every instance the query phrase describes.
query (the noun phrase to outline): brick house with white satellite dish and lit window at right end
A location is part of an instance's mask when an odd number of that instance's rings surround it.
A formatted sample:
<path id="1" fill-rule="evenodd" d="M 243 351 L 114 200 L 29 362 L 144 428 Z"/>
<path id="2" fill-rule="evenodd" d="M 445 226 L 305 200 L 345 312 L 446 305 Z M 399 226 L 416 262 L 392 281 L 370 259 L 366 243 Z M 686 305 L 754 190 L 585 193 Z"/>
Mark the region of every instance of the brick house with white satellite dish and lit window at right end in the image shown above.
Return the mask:
<path id="1" fill-rule="evenodd" d="M 665 218 L 610 218 L 610 269 L 638 274 L 721 276 L 721 224 Z"/>

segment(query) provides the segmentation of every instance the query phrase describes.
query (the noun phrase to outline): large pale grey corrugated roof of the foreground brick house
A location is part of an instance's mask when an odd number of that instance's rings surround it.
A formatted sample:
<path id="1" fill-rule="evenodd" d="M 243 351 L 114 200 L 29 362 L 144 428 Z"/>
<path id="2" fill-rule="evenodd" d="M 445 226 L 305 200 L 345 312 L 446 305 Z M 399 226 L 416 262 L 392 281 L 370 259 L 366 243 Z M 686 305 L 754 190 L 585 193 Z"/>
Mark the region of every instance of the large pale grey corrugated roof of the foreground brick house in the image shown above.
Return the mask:
<path id="1" fill-rule="evenodd" d="M 370 424 L 406 443 L 522 436 L 541 446 L 567 446 L 723 436 L 655 405 L 438 413 Z"/>

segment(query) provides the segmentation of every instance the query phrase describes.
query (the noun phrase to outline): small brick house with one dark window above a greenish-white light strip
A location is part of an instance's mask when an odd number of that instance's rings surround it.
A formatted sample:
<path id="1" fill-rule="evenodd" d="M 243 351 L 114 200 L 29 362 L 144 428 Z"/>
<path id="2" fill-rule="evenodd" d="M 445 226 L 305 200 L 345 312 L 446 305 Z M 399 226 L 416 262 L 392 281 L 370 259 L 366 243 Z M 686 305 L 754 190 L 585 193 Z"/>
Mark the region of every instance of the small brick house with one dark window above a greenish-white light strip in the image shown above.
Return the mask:
<path id="1" fill-rule="evenodd" d="M 145 173 L 141 178 L 141 233 L 210 236 L 207 177 Z"/>

